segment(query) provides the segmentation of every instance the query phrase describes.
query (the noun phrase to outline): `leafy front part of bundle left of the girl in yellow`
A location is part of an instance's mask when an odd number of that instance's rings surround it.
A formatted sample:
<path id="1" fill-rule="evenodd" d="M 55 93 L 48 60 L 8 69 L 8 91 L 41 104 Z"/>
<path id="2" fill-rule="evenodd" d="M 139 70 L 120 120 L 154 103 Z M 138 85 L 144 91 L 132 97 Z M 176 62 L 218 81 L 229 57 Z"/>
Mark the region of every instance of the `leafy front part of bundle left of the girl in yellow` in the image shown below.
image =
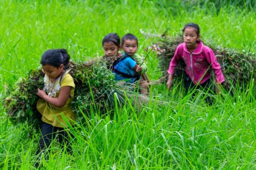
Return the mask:
<path id="1" fill-rule="evenodd" d="M 43 73 L 41 69 L 30 71 L 28 77 L 20 78 L 13 86 L 13 91 L 3 100 L 3 106 L 13 124 L 28 122 L 38 124 L 36 110 L 37 88 L 42 89 Z"/>

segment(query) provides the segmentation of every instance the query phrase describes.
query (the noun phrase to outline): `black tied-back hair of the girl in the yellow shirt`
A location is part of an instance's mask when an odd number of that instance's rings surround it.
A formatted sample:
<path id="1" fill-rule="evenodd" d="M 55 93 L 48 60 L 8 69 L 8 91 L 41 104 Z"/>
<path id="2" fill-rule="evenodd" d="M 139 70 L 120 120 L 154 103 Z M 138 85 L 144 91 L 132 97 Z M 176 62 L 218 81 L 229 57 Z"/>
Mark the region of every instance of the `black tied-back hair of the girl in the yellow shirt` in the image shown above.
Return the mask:
<path id="1" fill-rule="evenodd" d="M 52 65 L 57 68 L 63 64 L 64 69 L 67 69 L 69 67 L 69 58 L 70 56 L 65 49 L 46 50 L 46 52 L 42 54 L 40 64 Z"/>

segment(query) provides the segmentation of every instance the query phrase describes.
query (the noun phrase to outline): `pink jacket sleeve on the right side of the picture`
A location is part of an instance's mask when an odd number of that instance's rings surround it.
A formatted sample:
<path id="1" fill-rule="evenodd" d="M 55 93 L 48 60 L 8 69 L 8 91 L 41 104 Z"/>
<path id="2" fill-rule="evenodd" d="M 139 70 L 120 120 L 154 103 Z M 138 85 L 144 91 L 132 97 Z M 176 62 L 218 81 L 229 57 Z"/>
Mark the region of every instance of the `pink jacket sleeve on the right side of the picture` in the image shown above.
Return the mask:
<path id="1" fill-rule="evenodd" d="M 222 73 L 222 68 L 220 67 L 220 63 L 218 62 L 214 52 L 212 49 L 207 48 L 205 51 L 207 62 L 212 65 L 212 69 L 216 75 L 216 83 L 220 84 L 225 81 L 224 75 Z"/>

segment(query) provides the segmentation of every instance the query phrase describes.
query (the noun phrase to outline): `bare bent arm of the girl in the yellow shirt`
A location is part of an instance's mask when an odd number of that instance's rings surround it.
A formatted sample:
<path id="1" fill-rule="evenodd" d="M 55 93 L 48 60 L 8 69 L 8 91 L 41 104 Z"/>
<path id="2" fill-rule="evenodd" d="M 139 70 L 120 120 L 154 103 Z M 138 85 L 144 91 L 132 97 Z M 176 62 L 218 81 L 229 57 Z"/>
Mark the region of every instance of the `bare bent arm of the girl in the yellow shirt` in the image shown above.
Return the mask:
<path id="1" fill-rule="evenodd" d="M 49 97 L 48 95 L 46 95 L 45 91 L 41 89 L 38 89 L 37 95 L 45 101 L 47 101 L 48 103 L 51 103 L 52 105 L 62 108 L 67 102 L 67 99 L 69 98 L 71 88 L 71 86 L 61 87 L 61 89 L 59 90 L 59 97 Z"/>

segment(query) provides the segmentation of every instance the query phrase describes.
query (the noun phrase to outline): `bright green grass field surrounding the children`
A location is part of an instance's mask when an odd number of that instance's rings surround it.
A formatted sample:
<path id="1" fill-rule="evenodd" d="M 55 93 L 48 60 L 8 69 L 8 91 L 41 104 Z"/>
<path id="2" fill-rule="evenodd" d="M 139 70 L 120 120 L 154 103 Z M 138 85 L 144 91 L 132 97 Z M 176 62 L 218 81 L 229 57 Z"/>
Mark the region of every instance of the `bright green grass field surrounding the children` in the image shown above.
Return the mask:
<path id="1" fill-rule="evenodd" d="M 222 2 L 222 3 L 221 3 Z M 221 5 L 222 4 L 222 5 Z M 0 97 L 20 77 L 40 66 L 42 53 L 66 48 L 71 59 L 102 56 L 102 38 L 117 32 L 139 39 L 139 54 L 160 39 L 146 37 L 181 34 L 188 22 L 201 28 L 207 44 L 256 52 L 254 1 L 0 1 Z M 150 79 L 160 76 L 155 53 L 147 58 Z M 129 105 L 111 117 L 92 110 L 85 124 L 72 129 L 73 155 L 61 153 L 57 143 L 46 169 L 256 169 L 255 84 L 234 96 L 214 96 L 205 105 L 180 95 L 180 85 L 168 93 L 164 85 L 153 101 L 136 112 Z M 39 134 L 26 124 L 13 126 L 0 104 L 0 169 L 33 169 Z"/>

